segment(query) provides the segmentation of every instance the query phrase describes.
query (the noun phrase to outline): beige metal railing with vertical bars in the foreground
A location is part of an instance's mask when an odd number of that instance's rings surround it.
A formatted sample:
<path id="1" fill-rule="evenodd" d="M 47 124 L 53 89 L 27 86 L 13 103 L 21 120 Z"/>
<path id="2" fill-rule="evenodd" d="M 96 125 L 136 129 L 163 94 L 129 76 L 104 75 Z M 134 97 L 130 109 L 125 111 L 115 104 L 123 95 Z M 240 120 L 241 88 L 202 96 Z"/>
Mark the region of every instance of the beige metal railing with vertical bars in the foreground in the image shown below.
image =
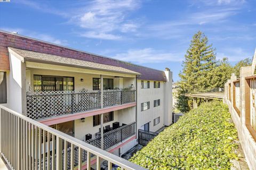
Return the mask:
<path id="1" fill-rule="evenodd" d="M 82 162 L 84 152 L 87 162 Z M 112 164 L 127 170 L 145 169 L 4 106 L 0 106 L 0 154 L 12 169 L 91 169 L 94 161 L 99 170 L 101 160 L 108 161 L 109 170 Z"/>

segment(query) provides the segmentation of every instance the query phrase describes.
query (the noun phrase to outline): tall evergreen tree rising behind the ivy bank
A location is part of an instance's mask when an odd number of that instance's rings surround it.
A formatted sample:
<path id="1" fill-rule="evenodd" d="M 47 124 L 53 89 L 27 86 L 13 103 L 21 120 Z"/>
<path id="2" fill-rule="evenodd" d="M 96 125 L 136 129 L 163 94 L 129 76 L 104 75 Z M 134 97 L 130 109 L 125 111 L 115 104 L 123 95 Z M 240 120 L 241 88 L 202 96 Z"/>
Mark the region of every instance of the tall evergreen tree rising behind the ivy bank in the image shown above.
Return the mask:
<path id="1" fill-rule="evenodd" d="M 182 63 L 183 70 L 179 74 L 180 90 L 178 92 L 177 108 L 181 112 L 187 112 L 191 103 L 184 93 L 210 90 L 215 82 L 213 70 L 217 61 L 214 53 L 215 49 L 208 44 L 208 38 L 203 32 L 198 31 L 191 40 L 191 44 Z"/>

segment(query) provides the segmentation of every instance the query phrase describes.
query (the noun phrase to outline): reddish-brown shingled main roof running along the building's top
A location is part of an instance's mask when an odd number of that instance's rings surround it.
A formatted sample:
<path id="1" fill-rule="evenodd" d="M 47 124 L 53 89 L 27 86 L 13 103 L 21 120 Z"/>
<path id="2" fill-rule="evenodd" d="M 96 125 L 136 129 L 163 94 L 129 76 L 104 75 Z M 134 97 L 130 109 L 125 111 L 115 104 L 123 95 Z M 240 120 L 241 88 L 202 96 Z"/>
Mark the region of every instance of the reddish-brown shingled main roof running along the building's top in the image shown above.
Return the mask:
<path id="1" fill-rule="evenodd" d="M 140 80 L 166 81 L 164 72 L 160 70 L 155 70 L 129 62 L 116 60 L 110 57 L 83 52 L 77 49 L 55 45 L 42 40 L 36 40 L 21 35 L 15 35 L 5 31 L 0 31 L 0 70 L 10 70 L 9 54 L 7 47 L 14 47 L 38 53 L 74 58 L 87 62 L 123 67 L 124 69 L 140 73 L 141 75 L 138 78 Z"/>

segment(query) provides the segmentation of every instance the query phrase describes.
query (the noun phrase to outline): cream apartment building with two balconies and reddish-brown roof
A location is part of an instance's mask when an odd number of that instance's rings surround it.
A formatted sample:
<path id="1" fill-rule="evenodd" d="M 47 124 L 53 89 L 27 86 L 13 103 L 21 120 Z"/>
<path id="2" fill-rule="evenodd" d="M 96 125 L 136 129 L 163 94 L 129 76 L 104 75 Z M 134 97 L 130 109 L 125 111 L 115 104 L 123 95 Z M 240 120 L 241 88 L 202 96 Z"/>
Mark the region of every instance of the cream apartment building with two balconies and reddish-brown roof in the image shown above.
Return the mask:
<path id="1" fill-rule="evenodd" d="M 5 31 L 0 50 L 1 105 L 71 137 L 121 156 L 137 145 L 138 129 L 172 123 L 169 69 Z"/>

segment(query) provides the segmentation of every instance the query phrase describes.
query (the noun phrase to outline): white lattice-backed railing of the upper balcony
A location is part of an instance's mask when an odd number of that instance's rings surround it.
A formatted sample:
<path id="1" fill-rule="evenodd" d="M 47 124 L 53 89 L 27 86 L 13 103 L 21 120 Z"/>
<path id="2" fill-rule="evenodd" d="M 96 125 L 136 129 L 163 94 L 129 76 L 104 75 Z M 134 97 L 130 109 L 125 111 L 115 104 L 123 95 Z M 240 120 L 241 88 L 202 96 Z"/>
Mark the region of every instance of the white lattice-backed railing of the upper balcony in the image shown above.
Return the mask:
<path id="1" fill-rule="evenodd" d="M 135 90 L 103 90 L 103 108 L 135 102 Z M 27 92 L 27 116 L 43 120 L 101 108 L 99 90 Z"/>

